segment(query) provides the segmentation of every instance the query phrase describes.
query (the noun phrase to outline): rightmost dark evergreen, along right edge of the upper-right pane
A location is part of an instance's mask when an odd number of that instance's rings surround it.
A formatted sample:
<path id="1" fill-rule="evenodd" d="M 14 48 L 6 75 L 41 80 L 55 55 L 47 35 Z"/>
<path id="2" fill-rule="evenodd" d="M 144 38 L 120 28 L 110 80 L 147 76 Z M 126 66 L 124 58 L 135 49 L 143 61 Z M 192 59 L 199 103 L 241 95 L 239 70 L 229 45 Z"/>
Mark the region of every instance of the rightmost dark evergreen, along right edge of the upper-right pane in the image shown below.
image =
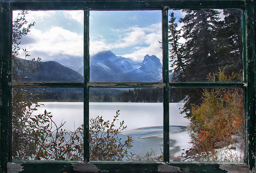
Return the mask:
<path id="1" fill-rule="evenodd" d="M 231 76 L 242 69 L 241 10 L 223 10 L 224 21 L 217 33 L 219 67 Z M 241 80 L 241 79 L 237 79 Z"/>

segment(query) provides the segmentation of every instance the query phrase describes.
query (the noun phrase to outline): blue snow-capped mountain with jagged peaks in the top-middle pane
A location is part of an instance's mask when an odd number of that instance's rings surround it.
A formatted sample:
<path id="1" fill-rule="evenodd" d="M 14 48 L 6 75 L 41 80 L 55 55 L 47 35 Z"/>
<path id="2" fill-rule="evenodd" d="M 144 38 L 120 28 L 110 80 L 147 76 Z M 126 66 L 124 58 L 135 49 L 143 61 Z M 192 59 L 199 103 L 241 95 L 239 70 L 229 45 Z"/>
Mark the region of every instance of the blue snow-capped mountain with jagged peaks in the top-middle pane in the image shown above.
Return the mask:
<path id="1" fill-rule="evenodd" d="M 78 72 L 83 74 L 83 67 Z M 91 82 L 157 82 L 161 79 L 162 64 L 155 55 L 147 54 L 142 62 L 116 56 L 111 51 L 90 57 Z"/>

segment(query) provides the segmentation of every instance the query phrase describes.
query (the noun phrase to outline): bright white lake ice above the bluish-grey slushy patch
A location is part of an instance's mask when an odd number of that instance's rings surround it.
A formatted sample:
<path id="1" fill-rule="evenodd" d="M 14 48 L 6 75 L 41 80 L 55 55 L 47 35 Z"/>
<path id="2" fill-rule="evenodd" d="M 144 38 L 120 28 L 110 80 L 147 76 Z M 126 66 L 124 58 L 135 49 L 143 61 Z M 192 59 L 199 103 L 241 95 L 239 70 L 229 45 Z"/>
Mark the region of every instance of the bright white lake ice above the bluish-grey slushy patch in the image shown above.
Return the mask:
<path id="1" fill-rule="evenodd" d="M 84 109 L 81 102 L 41 102 L 44 106 L 39 112 L 47 110 L 53 115 L 53 120 L 59 124 L 66 121 L 65 129 L 73 131 L 83 123 Z M 170 103 L 170 126 L 188 126 L 189 121 L 180 114 L 181 103 Z M 102 116 L 104 120 L 112 120 L 116 111 L 120 110 L 119 120 L 124 120 L 127 130 L 142 127 L 163 125 L 162 103 L 90 103 L 89 116 Z"/>

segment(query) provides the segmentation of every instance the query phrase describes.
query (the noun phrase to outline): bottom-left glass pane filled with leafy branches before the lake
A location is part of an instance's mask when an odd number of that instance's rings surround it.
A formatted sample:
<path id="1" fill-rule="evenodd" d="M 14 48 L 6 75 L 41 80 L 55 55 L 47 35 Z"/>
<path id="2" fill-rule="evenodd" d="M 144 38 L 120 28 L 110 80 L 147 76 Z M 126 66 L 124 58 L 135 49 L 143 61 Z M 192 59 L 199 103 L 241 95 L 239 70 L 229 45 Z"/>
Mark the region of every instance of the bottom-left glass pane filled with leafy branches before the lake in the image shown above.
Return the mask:
<path id="1" fill-rule="evenodd" d="M 12 159 L 83 159 L 83 89 L 14 88 Z"/>

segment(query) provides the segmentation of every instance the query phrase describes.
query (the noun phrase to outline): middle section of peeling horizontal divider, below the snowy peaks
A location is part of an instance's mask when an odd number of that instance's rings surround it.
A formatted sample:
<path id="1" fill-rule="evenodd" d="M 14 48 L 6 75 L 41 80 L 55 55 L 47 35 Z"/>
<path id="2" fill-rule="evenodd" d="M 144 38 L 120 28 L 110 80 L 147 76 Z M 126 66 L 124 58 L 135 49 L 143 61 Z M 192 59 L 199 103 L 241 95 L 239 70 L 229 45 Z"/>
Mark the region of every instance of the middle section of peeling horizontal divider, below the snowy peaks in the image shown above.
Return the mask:
<path id="1" fill-rule="evenodd" d="M 89 82 L 92 88 L 163 88 L 164 82 Z"/>

